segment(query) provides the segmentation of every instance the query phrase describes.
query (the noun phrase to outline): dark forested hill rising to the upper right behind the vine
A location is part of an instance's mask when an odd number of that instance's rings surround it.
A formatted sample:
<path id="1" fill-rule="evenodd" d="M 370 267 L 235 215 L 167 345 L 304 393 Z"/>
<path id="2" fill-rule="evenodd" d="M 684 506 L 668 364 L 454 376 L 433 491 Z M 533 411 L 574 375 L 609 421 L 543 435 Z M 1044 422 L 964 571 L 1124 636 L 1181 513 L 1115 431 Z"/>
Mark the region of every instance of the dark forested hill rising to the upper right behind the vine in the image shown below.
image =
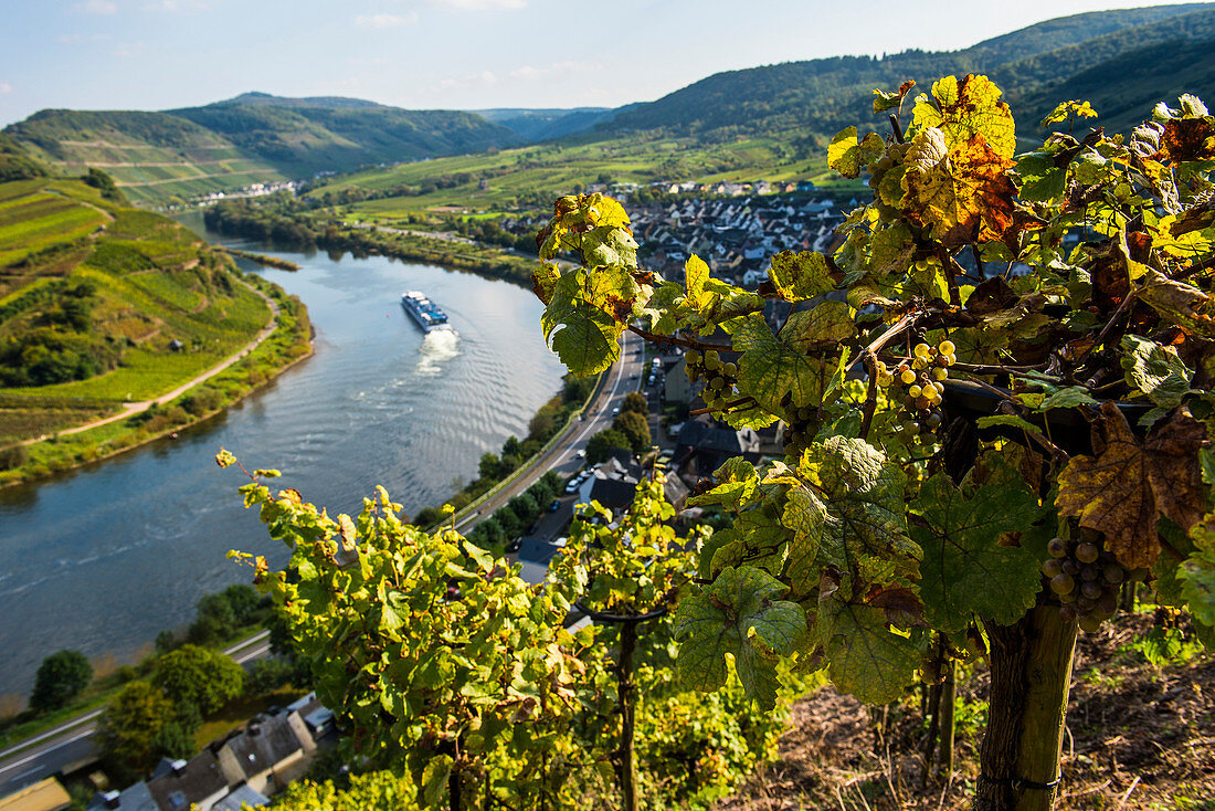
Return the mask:
<path id="1" fill-rule="evenodd" d="M 599 130 L 729 135 L 798 129 L 830 134 L 870 120 L 874 88 L 893 89 L 909 78 L 927 83 L 967 72 L 991 75 L 1011 100 L 1039 103 L 1045 109 L 1019 105 L 1036 116 L 1053 107 L 1047 100 L 1064 92 L 1078 74 L 1104 73 L 1106 85 L 1117 92 L 1118 83 L 1111 78 L 1120 74 L 1109 71 L 1115 64 L 1125 67 L 1129 53 L 1213 38 L 1215 4 L 1090 12 L 1038 23 L 961 51 L 842 56 L 717 73 L 657 101 L 618 111 Z M 1169 74 L 1176 79 L 1169 85 L 1210 94 L 1215 86 L 1209 81 L 1203 85 L 1204 62 L 1175 64 L 1181 73 Z M 1166 97 L 1165 88 L 1149 95 L 1148 107 Z"/>

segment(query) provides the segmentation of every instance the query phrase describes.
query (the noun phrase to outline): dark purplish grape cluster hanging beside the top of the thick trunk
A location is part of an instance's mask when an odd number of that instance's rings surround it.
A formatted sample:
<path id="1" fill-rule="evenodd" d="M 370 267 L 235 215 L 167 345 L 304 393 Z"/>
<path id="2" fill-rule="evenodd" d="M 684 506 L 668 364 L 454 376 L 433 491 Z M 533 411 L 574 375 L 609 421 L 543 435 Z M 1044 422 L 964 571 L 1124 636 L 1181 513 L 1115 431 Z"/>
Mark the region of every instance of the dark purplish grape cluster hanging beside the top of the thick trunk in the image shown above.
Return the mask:
<path id="1" fill-rule="evenodd" d="M 1051 539 L 1046 545 L 1051 557 L 1042 563 L 1042 574 L 1062 603 L 1059 616 L 1079 621 L 1092 633 L 1118 612 L 1118 592 L 1128 573 L 1104 551 L 1101 533 L 1085 528 L 1079 535 L 1079 540 Z"/>

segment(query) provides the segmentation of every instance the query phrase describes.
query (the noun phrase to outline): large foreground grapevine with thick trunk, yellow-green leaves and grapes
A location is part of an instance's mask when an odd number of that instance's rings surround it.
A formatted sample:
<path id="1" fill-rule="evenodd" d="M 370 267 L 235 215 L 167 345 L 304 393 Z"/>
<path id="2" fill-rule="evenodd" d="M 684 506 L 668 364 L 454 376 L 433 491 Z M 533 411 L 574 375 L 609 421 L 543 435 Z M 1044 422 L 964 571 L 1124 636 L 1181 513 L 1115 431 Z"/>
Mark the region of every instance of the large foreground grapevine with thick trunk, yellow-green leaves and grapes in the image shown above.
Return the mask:
<path id="1" fill-rule="evenodd" d="M 1018 159 L 988 79 L 937 81 L 905 122 L 910 86 L 875 96 L 889 137 L 831 142 L 830 165 L 875 190 L 832 257 L 778 254 L 763 295 L 696 257 L 665 281 L 637 267 L 618 203 L 566 197 L 541 257 L 582 266 L 533 274 L 541 325 L 584 376 L 625 330 L 682 345 L 716 418 L 787 426 L 782 463 L 731 458 L 690 501 L 731 526 L 678 608 L 686 685 L 719 689 L 733 660 L 772 706 L 789 664 L 882 704 L 977 651 L 976 807 L 1046 810 L 1076 632 L 1117 612 L 1121 582 L 1149 580 L 1215 647 L 1213 405 L 1193 371 L 1215 361 L 1215 118 L 1183 96 L 1128 139 L 1055 133 Z M 994 272 L 1012 263 L 1027 272 Z M 778 327 L 764 297 L 804 304 Z"/>

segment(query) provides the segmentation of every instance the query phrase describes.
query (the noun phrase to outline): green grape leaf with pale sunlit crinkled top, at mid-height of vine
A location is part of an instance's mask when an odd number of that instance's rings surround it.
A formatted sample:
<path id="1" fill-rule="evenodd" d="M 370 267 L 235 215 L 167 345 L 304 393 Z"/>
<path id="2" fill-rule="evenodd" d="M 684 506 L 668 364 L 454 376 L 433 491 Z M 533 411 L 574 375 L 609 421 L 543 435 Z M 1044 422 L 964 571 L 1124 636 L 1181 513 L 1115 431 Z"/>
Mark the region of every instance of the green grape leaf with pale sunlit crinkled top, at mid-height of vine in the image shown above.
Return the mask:
<path id="1" fill-rule="evenodd" d="M 903 471 L 863 439 L 830 437 L 812 444 L 797 464 L 808 526 L 820 557 L 841 571 L 857 571 L 866 581 L 893 582 L 915 575 L 920 547 L 906 534 Z M 791 490 L 791 494 L 796 490 Z M 799 497 L 799 496 L 798 496 Z M 795 564 L 797 561 L 795 559 Z M 795 571 L 812 571 L 802 564 Z M 796 584 L 806 593 L 814 584 Z"/>

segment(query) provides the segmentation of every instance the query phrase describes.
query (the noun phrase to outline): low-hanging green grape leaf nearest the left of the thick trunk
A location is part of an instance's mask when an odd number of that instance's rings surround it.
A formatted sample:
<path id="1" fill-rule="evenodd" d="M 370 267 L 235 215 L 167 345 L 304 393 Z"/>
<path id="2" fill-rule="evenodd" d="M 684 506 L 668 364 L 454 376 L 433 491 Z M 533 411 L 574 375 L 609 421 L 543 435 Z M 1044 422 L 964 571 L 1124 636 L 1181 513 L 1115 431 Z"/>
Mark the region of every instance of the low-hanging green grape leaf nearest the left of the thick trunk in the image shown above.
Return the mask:
<path id="1" fill-rule="evenodd" d="M 866 704 L 899 698 L 920 666 L 915 643 L 887 629 L 878 608 L 825 599 L 818 625 L 831 683 Z"/>

